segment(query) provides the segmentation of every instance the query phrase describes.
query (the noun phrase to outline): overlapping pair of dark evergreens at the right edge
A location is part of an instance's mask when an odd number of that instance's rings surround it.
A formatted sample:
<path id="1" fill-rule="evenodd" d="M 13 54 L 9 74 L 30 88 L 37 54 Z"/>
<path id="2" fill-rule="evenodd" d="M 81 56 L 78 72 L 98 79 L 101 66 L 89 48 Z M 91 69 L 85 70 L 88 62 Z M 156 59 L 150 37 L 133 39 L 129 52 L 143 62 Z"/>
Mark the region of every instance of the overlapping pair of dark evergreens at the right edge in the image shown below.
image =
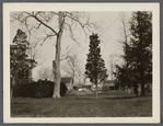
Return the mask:
<path id="1" fill-rule="evenodd" d="M 125 34 L 124 65 L 117 65 L 115 77 L 120 87 L 141 84 L 141 95 L 144 95 L 144 84 L 152 82 L 152 13 L 133 12 L 129 22 L 130 38 Z"/>

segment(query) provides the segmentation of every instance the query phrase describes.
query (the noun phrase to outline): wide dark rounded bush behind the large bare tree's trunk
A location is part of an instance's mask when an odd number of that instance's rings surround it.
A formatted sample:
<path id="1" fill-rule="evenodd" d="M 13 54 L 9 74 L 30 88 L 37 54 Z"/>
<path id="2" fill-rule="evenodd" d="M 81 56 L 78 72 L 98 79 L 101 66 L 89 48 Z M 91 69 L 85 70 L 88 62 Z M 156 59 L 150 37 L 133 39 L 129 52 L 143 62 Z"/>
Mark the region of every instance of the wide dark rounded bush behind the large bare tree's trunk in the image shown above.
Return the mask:
<path id="1" fill-rule="evenodd" d="M 14 87 L 13 96 L 22 98 L 51 98 L 54 93 L 54 82 L 38 81 L 28 84 Z M 60 83 L 60 95 L 63 96 L 67 92 L 67 87 L 63 82 Z"/>

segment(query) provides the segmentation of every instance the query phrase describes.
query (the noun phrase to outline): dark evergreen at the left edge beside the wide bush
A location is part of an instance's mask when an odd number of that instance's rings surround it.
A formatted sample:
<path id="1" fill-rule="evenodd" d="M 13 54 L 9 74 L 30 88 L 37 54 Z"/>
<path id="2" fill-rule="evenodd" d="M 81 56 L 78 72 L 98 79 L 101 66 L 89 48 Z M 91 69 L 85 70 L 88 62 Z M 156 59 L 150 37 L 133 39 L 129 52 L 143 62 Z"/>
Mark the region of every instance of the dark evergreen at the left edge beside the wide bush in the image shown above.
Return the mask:
<path id="1" fill-rule="evenodd" d="M 27 35 L 21 30 L 18 30 L 10 45 L 11 98 L 13 87 L 28 81 L 30 72 L 36 65 L 35 60 L 30 59 L 27 55 L 30 43 L 26 38 Z"/>

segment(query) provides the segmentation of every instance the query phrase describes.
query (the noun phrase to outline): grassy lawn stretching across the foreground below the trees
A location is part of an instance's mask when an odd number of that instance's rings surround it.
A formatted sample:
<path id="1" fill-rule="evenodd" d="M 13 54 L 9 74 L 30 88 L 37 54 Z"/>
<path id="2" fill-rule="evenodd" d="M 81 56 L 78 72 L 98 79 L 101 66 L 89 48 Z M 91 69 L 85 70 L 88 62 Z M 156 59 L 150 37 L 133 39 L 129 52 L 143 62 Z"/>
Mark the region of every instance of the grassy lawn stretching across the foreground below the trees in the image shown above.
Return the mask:
<path id="1" fill-rule="evenodd" d="M 13 98 L 12 117 L 138 117 L 152 116 L 152 96 L 136 98 L 124 91 L 61 99 Z"/>

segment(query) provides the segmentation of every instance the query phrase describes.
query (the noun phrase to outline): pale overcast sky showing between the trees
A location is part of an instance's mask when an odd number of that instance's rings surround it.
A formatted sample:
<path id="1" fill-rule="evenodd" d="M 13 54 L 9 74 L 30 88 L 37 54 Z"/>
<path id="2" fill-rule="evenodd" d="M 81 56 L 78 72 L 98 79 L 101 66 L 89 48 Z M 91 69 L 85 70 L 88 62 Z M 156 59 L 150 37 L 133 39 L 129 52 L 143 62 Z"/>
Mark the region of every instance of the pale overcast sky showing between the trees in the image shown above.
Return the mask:
<path id="1" fill-rule="evenodd" d="M 89 12 L 90 20 L 93 22 L 97 22 L 100 24 L 100 28 L 95 31 L 101 39 L 101 55 L 103 59 L 105 60 L 105 67 L 109 69 L 109 56 L 113 54 L 121 54 L 121 22 L 120 22 L 120 14 L 121 12 Z M 126 18 L 130 19 L 131 12 L 125 12 Z M 35 21 L 31 21 L 31 23 L 35 23 Z M 10 39 L 12 42 L 13 37 L 16 34 L 16 30 L 21 28 L 25 31 L 19 22 L 11 22 L 11 31 L 10 31 Z M 42 36 L 45 31 L 40 31 L 40 34 L 37 36 Z M 78 31 L 75 31 L 78 33 Z M 74 35 L 75 35 L 74 32 Z M 35 36 L 35 35 L 33 35 Z M 81 34 L 77 34 L 74 36 L 80 44 L 77 42 L 73 42 L 69 35 L 65 34 L 61 42 L 61 54 L 65 55 L 70 48 L 73 49 L 73 51 L 77 54 L 78 59 L 81 62 L 81 71 L 84 72 L 85 64 L 86 64 L 86 54 L 89 54 L 89 44 L 90 39 L 86 38 L 83 32 Z M 35 43 L 35 38 L 31 37 L 31 43 Z M 55 59 L 55 41 L 56 37 L 53 37 L 51 39 L 47 39 L 42 46 L 42 42 L 38 44 L 37 49 L 40 51 L 38 58 L 36 58 L 38 65 L 33 70 L 33 78 L 38 79 L 37 71 L 42 68 L 51 68 L 53 67 L 53 60 Z M 66 49 L 67 48 L 67 49 Z M 120 62 L 120 60 L 119 60 Z M 65 60 L 61 61 L 61 65 L 65 64 Z M 66 75 L 63 70 L 61 70 L 61 75 Z M 110 79 L 110 76 L 109 78 Z"/>

